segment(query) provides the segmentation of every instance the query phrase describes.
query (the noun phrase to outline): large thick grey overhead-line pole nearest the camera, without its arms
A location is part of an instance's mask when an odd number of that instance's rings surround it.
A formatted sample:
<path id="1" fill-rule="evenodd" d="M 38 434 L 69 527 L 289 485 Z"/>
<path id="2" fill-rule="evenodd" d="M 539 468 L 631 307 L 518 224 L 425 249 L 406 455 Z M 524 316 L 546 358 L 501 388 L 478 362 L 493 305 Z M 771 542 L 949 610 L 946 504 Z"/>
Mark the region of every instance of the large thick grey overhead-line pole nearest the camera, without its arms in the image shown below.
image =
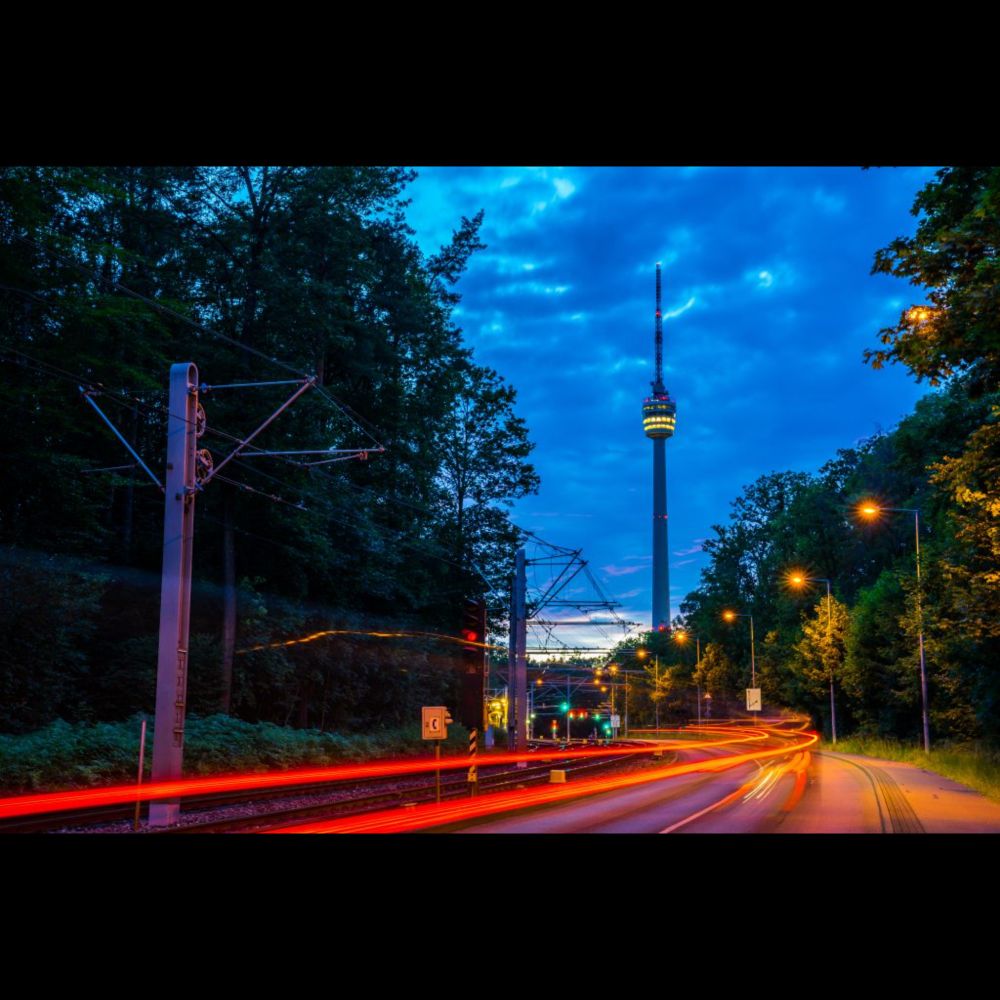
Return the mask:
<path id="1" fill-rule="evenodd" d="M 195 449 L 198 369 L 170 366 L 167 420 L 167 483 L 163 513 L 163 573 L 160 585 L 160 644 L 153 723 L 153 781 L 181 777 L 191 620 L 191 557 L 194 551 Z M 180 819 L 180 800 L 153 802 L 151 827 Z"/>

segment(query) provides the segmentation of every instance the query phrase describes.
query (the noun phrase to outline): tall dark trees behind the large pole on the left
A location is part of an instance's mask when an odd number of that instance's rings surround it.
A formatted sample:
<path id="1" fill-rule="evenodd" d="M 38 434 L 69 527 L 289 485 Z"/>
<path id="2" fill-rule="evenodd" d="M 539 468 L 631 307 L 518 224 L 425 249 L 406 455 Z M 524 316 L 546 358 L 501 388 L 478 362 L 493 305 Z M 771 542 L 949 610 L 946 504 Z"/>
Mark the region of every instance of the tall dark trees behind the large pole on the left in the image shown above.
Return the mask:
<path id="1" fill-rule="evenodd" d="M 414 178 L 0 169 L 0 731 L 152 708 L 162 495 L 80 387 L 162 477 L 178 361 L 210 386 L 315 375 L 255 443 L 363 452 L 236 459 L 199 494 L 189 709 L 351 729 L 449 696 L 455 647 L 364 633 L 454 635 L 538 477 L 514 390 L 452 319 L 482 214 L 422 254 Z M 203 393 L 200 446 L 218 464 L 294 389 Z"/>

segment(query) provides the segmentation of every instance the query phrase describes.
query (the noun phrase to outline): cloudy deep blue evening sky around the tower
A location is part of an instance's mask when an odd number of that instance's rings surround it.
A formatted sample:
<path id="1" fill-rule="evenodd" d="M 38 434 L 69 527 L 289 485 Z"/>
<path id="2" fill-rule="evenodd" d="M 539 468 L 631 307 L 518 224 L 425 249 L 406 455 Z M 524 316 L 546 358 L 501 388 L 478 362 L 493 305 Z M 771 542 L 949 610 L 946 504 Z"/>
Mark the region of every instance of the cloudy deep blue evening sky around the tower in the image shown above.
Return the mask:
<path id="1" fill-rule="evenodd" d="M 410 225 L 427 253 L 485 209 L 488 249 L 456 322 L 518 391 L 539 494 L 516 523 L 583 547 L 623 613 L 648 623 L 655 264 L 663 262 L 671 613 L 701 540 L 758 476 L 815 471 L 927 391 L 861 361 L 919 289 L 870 275 L 912 233 L 933 168 L 417 168 Z"/>

